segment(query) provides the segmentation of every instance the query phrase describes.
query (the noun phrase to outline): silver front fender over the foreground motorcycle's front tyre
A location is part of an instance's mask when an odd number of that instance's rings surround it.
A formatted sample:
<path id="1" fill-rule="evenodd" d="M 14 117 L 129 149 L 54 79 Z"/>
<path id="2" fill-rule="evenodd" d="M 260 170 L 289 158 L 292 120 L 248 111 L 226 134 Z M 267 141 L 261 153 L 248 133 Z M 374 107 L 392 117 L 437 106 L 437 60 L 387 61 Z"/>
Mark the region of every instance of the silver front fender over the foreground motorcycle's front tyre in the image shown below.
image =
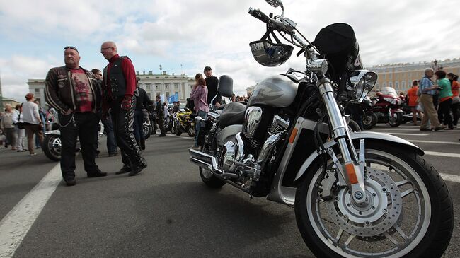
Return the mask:
<path id="1" fill-rule="evenodd" d="M 393 136 L 393 135 L 390 135 L 390 134 L 376 133 L 376 132 L 372 132 L 372 131 L 359 131 L 359 132 L 355 132 L 355 133 L 350 134 L 350 138 L 352 139 L 352 141 L 357 141 L 359 139 L 371 139 L 371 140 L 374 140 L 374 141 L 389 141 L 391 143 L 396 143 L 396 144 L 401 145 L 401 146 L 406 146 L 406 147 L 410 148 L 412 151 L 414 151 L 415 153 L 417 153 L 420 156 L 423 156 L 425 154 L 425 152 L 422 151 L 422 149 L 419 148 L 418 146 L 415 146 L 415 144 L 410 143 L 409 141 L 406 141 L 405 139 L 401 139 L 399 137 L 396 137 L 396 136 Z M 328 141 L 327 143 L 324 143 L 324 148 L 327 149 L 327 148 L 333 147 L 335 145 L 337 145 L 337 142 Z M 311 153 L 309 158 L 307 158 L 305 160 L 304 164 L 301 165 L 301 167 L 300 167 L 299 171 L 297 172 L 297 175 L 296 175 L 296 177 L 294 179 L 294 182 L 296 182 L 302 175 L 304 175 L 304 173 L 309 169 L 311 164 L 314 163 L 316 158 L 318 158 L 318 153 L 316 153 L 316 152 Z"/>

